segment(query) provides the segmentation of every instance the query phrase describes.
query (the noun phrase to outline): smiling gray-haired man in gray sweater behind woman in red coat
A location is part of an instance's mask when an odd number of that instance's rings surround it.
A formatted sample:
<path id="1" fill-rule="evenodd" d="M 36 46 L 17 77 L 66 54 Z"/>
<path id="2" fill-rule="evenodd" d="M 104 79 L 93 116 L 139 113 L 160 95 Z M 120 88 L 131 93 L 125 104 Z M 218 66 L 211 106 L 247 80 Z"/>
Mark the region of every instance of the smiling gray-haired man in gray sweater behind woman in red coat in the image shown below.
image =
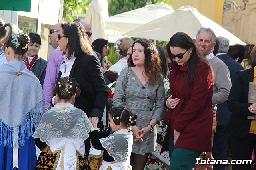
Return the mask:
<path id="1" fill-rule="evenodd" d="M 231 88 L 230 72 L 226 64 L 218 57 L 214 56 L 212 51 L 214 50 L 216 36 L 210 28 L 200 28 L 196 34 L 196 46 L 206 60 L 212 66 L 214 72 L 214 86 L 212 96 L 212 109 L 213 109 L 213 134 L 216 130 L 216 111 L 217 104 L 224 103 L 228 100 L 229 91 Z M 212 140 L 213 140 L 212 134 Z M 208 153 L 208 158 L 211 158 L 211 153 Z M 208 167 L 208 169 L 211 167 Z M 216 168 L 214 168 L 216 170 Z"/>

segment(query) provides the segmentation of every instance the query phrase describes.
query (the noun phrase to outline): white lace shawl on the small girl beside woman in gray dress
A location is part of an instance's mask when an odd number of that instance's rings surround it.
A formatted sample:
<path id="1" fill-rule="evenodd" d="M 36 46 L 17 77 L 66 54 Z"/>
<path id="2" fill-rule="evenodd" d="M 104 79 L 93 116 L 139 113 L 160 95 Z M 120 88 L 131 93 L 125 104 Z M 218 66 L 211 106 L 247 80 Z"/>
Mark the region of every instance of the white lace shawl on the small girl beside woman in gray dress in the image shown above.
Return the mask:
<path id="1" fill-rule="evenodd" d="M 116 163 L 130 160 L 133 137 L 129 130 L 118 130 L 108 137 L 100 139 L 100 143 L 108 151 L 108 154 L 114 158 Z"/>

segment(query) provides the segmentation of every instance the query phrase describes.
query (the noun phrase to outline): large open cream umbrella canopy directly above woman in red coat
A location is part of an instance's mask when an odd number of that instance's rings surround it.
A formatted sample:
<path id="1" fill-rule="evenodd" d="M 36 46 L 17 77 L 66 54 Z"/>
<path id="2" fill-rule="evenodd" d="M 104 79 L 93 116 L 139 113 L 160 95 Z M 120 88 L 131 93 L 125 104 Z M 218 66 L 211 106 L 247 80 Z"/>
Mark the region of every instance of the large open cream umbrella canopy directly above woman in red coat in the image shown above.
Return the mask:
<path id="1" fill-rule="evenodd" d="M 234 36 L 216 22 L 200 14 L 196 8 L 182 6 L 174 13 L 165 15 L 157 20 L 152 20 L 125 35 L 132 37 L 148 38 L 153 40 L 169 41 L 176 32 L 185 32 L 191 38 L 196 38 L 196 33 L 201 27 L 211 28 L 216 36 L 228 38 L 230 45 L 236 43 L 245 45 L 242 40 Z"/>

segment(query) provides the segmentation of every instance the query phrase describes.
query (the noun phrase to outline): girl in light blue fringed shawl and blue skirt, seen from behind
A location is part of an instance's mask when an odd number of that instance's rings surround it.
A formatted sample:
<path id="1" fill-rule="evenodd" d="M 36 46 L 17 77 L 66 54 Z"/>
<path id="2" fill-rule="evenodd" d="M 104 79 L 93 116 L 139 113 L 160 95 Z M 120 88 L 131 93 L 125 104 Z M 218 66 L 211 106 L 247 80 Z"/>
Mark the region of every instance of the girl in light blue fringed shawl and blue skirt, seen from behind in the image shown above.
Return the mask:
<path id="1" fill-rule="evenodd" d="M 34 170 L 34 127 L 44 113 L 44 93 L 27 69 L 29 36 L 15 33 L 4 44 L 8 63 L 0 65 L 0 169 Z"/>

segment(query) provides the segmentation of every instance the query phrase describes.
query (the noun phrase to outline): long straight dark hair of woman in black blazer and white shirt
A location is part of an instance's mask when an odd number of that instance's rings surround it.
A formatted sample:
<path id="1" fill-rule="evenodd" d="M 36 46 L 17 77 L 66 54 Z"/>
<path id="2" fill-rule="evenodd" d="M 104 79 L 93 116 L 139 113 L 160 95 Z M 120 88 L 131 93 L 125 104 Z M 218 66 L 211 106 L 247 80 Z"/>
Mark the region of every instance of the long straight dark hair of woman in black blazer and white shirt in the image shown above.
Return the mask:
<path id="1" fill-rule="evenodd" d="M 62 22 L 61 28 L 63 34 L 68 36 L 68 44 L 66 46 L 66 50 L 68 49 L 67 59 L 70 59 L 73 53 L 76 58 L 80 58 L 84 53 L 93 54 L 82 24 L 79 22 Z"/>

